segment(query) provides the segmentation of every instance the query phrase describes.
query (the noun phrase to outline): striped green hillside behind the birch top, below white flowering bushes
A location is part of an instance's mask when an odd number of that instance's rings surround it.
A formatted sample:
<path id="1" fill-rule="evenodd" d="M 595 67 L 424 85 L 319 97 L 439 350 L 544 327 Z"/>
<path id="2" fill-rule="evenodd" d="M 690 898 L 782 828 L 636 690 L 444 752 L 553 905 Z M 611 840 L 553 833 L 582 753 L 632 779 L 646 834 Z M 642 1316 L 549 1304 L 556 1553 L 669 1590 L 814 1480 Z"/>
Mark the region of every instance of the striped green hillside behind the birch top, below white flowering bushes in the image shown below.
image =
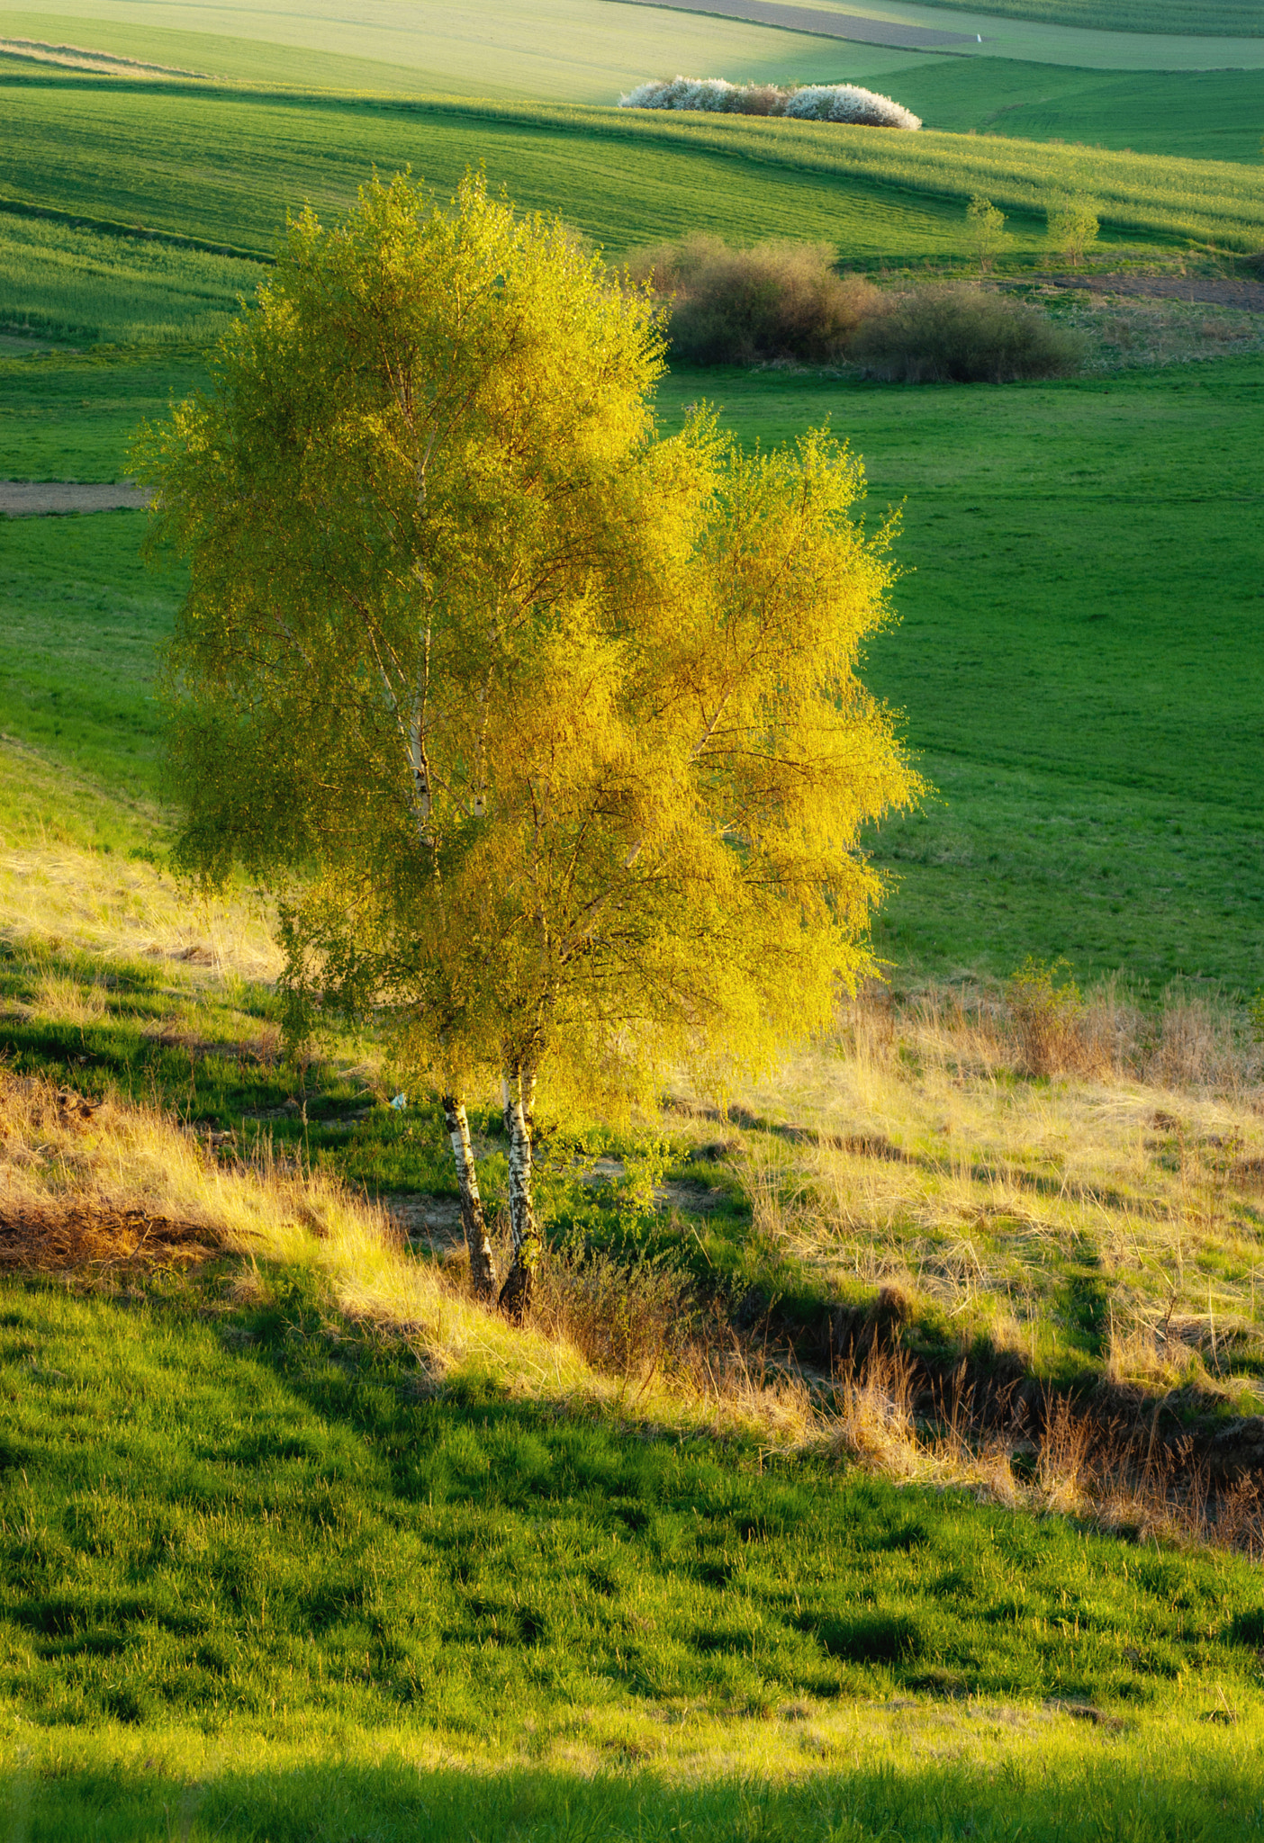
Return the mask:
<path id="1" fill-rule="evenodd" d="M 411 162 L 446 190 L 479 160 L 494 182 L 512 184 L 523 208 L 560 208 L 615 254 L 689 229 L 737 241 L 825 238 L 860 262 L 966 254 L 966 203 L 986 190 L 1010 212 L 1021 258 L 1043 249 L 1058 188 L 1085 184 L 1107 241 L 1198 238 L 1251 249 L 1264 240 L 1264 186 L 1227 162 L 792 122 L 190 94 L 68 77 L 9 79 L 4 96 L 0 190 L 9 199 L 241 251 L 269 251 L 286 208 L 339 208 L 374 164 L 391 171 Z M 87 232 L 7 234 L 18 243 L 35 236 L 57 260 L 0 271 L 0 317 L 87 321 L 98 260 Z M 146 311 L 166 258 L 149 245 L 125 251 L 123 262 L 129 293 L 98 313 L 107 330 Z M 177 330 L 214 315 L 234 280 L 223 264 L 206 256 L 205 275 L 175 289 Z"/>

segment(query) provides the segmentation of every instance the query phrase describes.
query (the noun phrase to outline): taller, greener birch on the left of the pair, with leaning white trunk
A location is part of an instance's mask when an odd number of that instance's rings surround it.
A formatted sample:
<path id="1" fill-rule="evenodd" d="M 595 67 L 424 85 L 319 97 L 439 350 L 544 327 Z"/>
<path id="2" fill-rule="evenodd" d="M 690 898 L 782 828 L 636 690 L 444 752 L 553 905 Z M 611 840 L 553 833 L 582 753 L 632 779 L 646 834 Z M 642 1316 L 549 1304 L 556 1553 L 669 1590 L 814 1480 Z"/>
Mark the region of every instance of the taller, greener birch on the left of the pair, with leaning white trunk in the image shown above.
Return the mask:
<path id="1" fill-rule="evenodd" d="M 562 225 L 468 177 L 289 227 L 208 393 L 146 431 L 190 564 L 166 676 L 181 855 L 280 896 L 291 1025 L 374 1010 L 444 1095 L 475 1283 L 496 1285 L 466 1084 L 488 783 L 518 667 L 623 579 L 661 337 Z M 319 979 L 313 980 L 313 968 Z"/>

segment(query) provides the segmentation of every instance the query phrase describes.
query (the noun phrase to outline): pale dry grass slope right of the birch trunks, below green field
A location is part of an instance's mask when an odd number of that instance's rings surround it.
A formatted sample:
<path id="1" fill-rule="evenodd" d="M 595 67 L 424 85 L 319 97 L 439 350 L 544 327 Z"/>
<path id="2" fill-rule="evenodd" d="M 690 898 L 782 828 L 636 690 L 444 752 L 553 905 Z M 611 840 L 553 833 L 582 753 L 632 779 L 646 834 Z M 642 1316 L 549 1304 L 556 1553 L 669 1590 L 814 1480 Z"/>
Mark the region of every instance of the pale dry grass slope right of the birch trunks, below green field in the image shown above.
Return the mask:
<path id="1" fill-rule="evenodd" d="M 1089 1274 L 1117 1380 L 1216 1386 L 1264 1358 L 1264 1084 L 1233 1023 L 1174 995 L 1142 1038 L 1107 995 L 1085 1073 L 1032 1082 L 1001 1008 L 859 1004 L 739 1097 L 755 1227 L 1026 1358 Z"/>

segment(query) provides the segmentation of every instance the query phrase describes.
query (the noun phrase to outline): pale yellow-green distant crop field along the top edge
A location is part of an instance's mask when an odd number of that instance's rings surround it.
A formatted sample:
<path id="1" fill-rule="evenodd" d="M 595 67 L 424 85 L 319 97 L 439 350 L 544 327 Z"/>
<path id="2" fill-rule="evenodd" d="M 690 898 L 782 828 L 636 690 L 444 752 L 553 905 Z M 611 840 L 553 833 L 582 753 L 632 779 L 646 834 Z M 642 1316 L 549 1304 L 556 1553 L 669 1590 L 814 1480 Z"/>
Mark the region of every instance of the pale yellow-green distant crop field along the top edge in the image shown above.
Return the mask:
<path id="1" fill-rule="evenodd" d="M 1179 0 L 1148 9 L 1142 31 L 1120 29 L 1106 4 L 1093 0 L 1093 17 L 1056 17 L 1052 7 L 1063 0 L 1034 4 L 1050 11 L 1017 17 L 1017 6 L 943 11 L 916 0 L 866 0 L 864 42 L 857 42 L 803 31 L 802 4 L 787 29 L 720 18 L 695 9 L 696 0 L 684 11 L 621 0 L 538 0 L 531 7 L 523 0 L 462 0 L 429 17 L 418 35 L 415 15 L 400 0 L 370 0 L 354 22 L 332 0 L 278 0 L 249 11 L 206 4 L 195 13 L 177 0 L 76 0 L 74 15 L 0 11 L 0 37 L 87 46 L 245 83 L 582 103 L 606 103 L 647 76 L 676 72 L 733 81 L 868 81 L 936 57 L 910 52 L 908 28 L 960 35 L 953 63 L 989 55 L 1074 70 L 1264 66 L 1258 6 L 1247 13 L 1249 0 L 1203 4 L 1198 31 L 1172 17 Z M 842 15 L 846 28 L 849 9 L 835 0 L 809 0 L 809 7 L 833 31 Z M 890 28 L 890 46 L 870 42 L 883 26 Z M 977 39 L 984 44 L 971 50 Z"/>

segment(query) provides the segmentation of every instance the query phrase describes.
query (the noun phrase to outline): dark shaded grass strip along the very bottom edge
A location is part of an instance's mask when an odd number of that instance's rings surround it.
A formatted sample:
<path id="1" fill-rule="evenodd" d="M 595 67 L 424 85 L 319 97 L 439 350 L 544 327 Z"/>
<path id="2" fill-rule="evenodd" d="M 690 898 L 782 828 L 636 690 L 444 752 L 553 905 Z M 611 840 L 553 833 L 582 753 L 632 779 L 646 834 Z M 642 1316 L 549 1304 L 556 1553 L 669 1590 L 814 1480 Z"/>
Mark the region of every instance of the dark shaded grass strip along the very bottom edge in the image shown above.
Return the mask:
<path id="1" fill-rule="evenodd" d="M 1231 1843 L 1260 1828 L 1264 1767 L 1249 1747 L 1187 1751 L 1166 1767 L 1096 1742 L 1050 1760 L 997 1747 L 978 1766 L 883 1762 L 794 1784 L 693 1780 L 623 1769 L 505 1773 L 383 1764 L 228 1769 L 177 1778 L 144 1769 L 18 1771 L 0 1797 L 22 1843 Z M 684 1778 L 684 1782 L 682 1782 Z"/>

